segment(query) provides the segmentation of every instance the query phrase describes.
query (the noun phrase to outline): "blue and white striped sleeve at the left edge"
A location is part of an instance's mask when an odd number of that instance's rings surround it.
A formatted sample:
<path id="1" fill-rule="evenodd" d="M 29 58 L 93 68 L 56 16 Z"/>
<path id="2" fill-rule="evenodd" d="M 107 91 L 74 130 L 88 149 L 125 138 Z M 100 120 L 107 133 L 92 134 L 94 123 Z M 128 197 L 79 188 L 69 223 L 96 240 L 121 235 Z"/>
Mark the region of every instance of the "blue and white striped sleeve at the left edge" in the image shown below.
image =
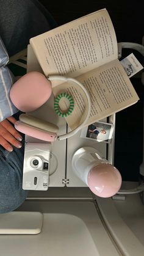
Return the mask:
<path id="1" fill-rule="evenodd" d="M 0 122 L 18 112 L 10 100 L 10 88 L 15 78 L 5 65 L 9 62 L 9 56 L 0 37 Z"/>

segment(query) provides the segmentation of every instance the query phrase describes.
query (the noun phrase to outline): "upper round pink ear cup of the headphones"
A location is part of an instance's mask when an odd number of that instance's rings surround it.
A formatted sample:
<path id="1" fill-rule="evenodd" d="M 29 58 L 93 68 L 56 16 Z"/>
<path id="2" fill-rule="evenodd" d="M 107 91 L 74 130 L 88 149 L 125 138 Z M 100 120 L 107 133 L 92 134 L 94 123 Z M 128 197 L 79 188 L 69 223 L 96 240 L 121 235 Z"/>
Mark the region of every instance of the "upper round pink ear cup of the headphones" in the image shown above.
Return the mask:
<path id="1" fill-rule="evenodd" d="M 13 84 L 10 99 L 16 108 L 31 112 L 43 105 L 51 92 L 51 82 L 40 72 L 32 71 Z"/>

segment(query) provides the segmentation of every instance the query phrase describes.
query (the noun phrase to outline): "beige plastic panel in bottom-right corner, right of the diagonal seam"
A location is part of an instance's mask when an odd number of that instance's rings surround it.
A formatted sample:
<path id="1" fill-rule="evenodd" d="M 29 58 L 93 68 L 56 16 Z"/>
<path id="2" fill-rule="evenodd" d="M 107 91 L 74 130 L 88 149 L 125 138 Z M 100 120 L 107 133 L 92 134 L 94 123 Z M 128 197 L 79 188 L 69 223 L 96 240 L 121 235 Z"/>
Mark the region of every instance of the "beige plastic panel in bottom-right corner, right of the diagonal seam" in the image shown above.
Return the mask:
<path id="1" fill-rule="evenodd" d="M 127 196 L 126 200 L 122 201 L 100 197 L 96 200 L 107 228 L 121 248 L 121 254 L 143 256 L 144 206 L 139 195 Z"/>

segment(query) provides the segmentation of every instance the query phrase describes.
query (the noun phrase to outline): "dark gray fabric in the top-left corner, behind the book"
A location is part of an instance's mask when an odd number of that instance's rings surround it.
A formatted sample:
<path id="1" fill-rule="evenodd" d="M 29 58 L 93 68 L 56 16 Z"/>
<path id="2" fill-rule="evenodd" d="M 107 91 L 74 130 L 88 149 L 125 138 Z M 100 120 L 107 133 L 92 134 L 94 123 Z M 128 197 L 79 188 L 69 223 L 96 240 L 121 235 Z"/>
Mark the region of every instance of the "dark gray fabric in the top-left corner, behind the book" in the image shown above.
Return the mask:
<path id="1" fill-rule="evenodd" d="M 29 39 L 56 26 L 37 0 L 0 0 L 0 35 L 9 56 L 27 48 Z"/>

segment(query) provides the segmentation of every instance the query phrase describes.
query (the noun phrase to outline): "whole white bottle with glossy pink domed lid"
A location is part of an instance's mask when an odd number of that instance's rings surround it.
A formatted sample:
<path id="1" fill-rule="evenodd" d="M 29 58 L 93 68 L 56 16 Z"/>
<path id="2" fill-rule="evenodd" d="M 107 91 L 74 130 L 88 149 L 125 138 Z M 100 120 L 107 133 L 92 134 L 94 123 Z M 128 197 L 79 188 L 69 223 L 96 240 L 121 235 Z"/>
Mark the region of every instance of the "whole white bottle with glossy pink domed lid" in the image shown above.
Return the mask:
<path id="1" fill-rule="evenodd" d="M 121 187 L 120 172 L 92 147 L 77 150 L 73 171 L 99 197 L 112 197 Z"/>

